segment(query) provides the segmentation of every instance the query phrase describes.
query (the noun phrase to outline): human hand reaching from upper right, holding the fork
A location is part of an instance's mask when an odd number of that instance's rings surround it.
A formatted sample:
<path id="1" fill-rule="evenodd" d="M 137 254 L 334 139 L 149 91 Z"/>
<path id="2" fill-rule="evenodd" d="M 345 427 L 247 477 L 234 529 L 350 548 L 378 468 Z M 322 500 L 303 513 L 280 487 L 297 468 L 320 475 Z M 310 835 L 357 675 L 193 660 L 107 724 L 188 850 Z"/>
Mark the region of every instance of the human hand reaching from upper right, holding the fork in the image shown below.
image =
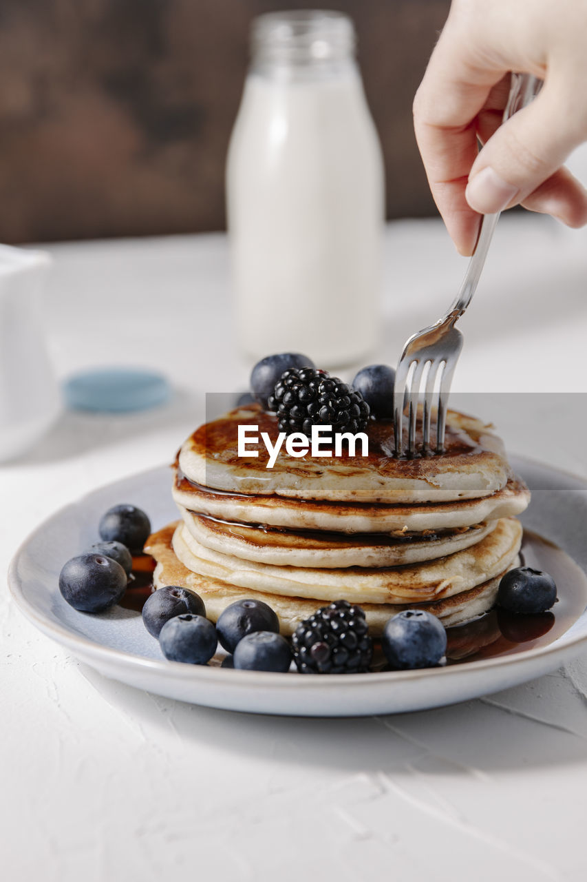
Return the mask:
<path id="1" fill-rule="evenodd" d="M 502 125 L 509 71 L 544 86 Z M 413 111 L 432 195 L 461 254 L 472 254 L 479 213 L 521 204 L 569 227 L 587 223 L 587 191 L 563 167 L 587 140 L 587 0 L 452 0 Z"/>

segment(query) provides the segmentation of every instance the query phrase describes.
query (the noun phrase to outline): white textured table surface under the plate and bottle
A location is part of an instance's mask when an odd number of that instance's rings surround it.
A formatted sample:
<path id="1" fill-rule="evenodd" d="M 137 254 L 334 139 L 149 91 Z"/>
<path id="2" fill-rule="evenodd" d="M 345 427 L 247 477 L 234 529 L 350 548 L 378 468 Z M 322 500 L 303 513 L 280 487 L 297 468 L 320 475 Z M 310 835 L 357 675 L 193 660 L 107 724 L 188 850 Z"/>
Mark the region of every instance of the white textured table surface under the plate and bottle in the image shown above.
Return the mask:
<path id="1" fill-rule="evenodd" d="M 144 363 L 176 392 L 140 415 L 63 415 L 0 466 L 2 572 L 58 507 L 170 461 L 204 392 L 244 389 L 249 372 L 233 342 L 224 236 L 48 250 L 58 374 Z M 439 222 L 390 225 L 376 360 L 395 362 L 405 337 L 437 318 L 464 265 Z M 483 393 L 479 415 L 511 452 L 587 476 L 587 231 L 502 219 L 462 327 L 457 390 Z M 554 444 L 556 425 L 573 428 Z M 461 705 L 320 721 L 108 681 L 35 631 L 5 589 L 0 629 L 4 878 L 585 878 L 587 653 Z"/>

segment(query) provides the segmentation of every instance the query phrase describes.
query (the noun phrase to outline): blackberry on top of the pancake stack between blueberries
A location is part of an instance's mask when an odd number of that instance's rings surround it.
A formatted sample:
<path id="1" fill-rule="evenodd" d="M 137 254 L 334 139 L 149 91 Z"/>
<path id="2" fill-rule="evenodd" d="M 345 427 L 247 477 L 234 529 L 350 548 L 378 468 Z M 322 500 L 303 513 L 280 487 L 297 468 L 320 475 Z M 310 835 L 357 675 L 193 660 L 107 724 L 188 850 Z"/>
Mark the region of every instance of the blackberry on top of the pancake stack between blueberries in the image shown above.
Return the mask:
<path id="1" fill-rule="evenodd" d="M 278 415 L 279 431 L 310 435 L 312 426 L 332 426 L 333 432 L 365 428 L 369 406 L 360 392 L 316 368 L 290 368 L 279 378 L 268 407 Z"/>

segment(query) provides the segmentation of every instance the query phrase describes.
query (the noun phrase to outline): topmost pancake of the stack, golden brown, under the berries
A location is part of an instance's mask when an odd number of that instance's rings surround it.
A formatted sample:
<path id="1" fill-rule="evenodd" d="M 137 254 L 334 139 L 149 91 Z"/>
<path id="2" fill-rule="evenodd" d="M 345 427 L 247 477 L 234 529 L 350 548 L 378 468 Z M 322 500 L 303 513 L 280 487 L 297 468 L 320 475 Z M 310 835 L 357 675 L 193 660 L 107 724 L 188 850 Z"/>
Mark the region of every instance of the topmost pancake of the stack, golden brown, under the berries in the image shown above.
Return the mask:
<path id="1" fill-rule="evenodd" d="M 200 426 L 185 441 L 179 453 L 182 474 L 190 482 L 231 493 L 409 505 L 487 497 L 508 482 L 502 441 L 492 427 L 453 410 L 447 415 L 442 456 L 411 460 L 394 456 L 391 421 L 370 420 L 366 457 L 346 452 L 338 457 L 296 458 L 284 447 L 268 468 L 263 442 L 256 445 L 256 457 L 238 455 L 241 425 L 257 427 L 259 437 L 266 432 L 273 445 L 277 441 L 276 415 L 257 404 L 237 407 Z"/>

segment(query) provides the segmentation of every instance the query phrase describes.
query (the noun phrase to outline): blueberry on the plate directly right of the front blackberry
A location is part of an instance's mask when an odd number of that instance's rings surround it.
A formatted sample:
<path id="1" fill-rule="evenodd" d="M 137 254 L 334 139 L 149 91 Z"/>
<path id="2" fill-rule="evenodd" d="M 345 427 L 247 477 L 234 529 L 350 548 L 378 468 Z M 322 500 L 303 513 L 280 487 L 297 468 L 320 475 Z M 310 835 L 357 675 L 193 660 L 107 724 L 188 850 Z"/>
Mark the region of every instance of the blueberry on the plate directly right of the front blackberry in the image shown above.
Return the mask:
<path id="1" fill-rule="evenodd" d="M 423 609 L 405 609 L 383 628 L 382 648 L 395 669 L 433 668 L 446 652 L 446 631 Z"/>

